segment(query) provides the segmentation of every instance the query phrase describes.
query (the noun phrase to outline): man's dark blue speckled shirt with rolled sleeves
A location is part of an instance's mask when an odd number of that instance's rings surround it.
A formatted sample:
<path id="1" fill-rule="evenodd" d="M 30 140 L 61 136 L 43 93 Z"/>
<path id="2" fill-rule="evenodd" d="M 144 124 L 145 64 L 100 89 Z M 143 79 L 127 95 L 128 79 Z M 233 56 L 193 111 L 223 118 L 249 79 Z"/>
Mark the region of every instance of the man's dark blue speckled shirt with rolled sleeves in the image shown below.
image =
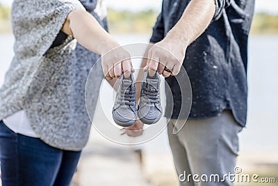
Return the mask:
<path id="1" fill-rule="evenodd" d="M 189 2 L 163 1 L 150 42 L 159 42 L 165 37 Z M 215 0 L 215 5 L 211 24 L 188 47 L 183 61 L 193 93 L 188 118 L 210 118 L 224 109 L 231 109 L 236 121 L 244 126 L 247 118 L 247 42 L 254 0 Z M 177 118 L 181 91 L 175 77 L 166 78 L 166 82 L 172 91 L 174 110 L 167 105 L 165 116 Z M 187 115 L 181 113 L 180 116 L 186 118 Z"/>

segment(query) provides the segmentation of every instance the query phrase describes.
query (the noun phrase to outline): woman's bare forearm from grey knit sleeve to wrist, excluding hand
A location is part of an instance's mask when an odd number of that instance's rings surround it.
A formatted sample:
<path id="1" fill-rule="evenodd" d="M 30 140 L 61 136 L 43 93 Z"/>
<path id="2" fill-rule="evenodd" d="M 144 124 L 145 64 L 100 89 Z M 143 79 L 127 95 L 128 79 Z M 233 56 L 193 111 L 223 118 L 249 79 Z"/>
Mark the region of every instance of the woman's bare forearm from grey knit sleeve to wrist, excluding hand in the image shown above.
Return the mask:
<path id="1" fill-rule="evenodd" d="M 104 54 L 119 46 L 99 25 L 95 17 L 84 10 L 72 11 L 62 30 L 68 35 L 74 36 L 83 47 L 97 54 Z"/>

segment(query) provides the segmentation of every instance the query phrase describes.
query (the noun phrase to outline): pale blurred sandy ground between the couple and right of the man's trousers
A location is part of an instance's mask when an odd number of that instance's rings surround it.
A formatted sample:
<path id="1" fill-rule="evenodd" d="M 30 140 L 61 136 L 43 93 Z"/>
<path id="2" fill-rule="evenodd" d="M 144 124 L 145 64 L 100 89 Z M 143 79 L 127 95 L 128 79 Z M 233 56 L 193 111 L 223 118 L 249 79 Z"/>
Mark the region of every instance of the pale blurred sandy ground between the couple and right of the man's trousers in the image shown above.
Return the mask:
<path id="1" fill-rule="evenodd" d="M 136 149 L 132 146 L 114 144 L 92 130 L 92 137 L 83 150 L 79 163 L 78 178 L 74 181 L 77 180 L 79 186 L 178 185 L 170 152 L 151 153 L 143 148 L 140 159 L 134 150 Z M 242 151 L 238 156 L 237 166 L 243 173 L 272 176 L 277 178 L 278 182 L 278 152 Z M 275 184 L 270 184 L 272 185 Z"/>

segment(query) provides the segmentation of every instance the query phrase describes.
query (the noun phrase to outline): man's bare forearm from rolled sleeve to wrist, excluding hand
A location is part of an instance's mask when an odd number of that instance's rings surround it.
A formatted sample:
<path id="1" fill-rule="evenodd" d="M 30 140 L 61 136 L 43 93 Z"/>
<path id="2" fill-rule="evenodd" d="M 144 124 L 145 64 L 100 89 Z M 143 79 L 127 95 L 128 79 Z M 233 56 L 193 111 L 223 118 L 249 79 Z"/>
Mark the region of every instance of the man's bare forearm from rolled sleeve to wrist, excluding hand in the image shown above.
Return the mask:
<path id="1" fill-rule="evenodd" d="M 215 1 L 190 1 L 179 22 L 167 33 L 166 39 L 180 40 L 189 45 L 206 30 L 214 14 Z"/>

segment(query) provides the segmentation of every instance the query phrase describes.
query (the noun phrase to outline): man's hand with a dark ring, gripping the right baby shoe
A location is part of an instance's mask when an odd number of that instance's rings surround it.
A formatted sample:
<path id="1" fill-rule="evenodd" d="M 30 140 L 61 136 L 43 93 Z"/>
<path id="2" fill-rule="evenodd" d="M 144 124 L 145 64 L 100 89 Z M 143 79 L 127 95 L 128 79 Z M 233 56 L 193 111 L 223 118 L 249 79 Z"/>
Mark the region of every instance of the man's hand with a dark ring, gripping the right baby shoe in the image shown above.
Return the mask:
<path id="1" fill-rule="evenodd" d="M 156 70 L 164 77 L 177 75 L 181 69 L 188 43 L 179 38 L 167 36 L 161 42 L 156 43 L 149 49 L 147 65 L 145 70 L 149 69 L 149 75 L 153 76 Z M 169 69 L 171 72 L 165 70 Z"/>

